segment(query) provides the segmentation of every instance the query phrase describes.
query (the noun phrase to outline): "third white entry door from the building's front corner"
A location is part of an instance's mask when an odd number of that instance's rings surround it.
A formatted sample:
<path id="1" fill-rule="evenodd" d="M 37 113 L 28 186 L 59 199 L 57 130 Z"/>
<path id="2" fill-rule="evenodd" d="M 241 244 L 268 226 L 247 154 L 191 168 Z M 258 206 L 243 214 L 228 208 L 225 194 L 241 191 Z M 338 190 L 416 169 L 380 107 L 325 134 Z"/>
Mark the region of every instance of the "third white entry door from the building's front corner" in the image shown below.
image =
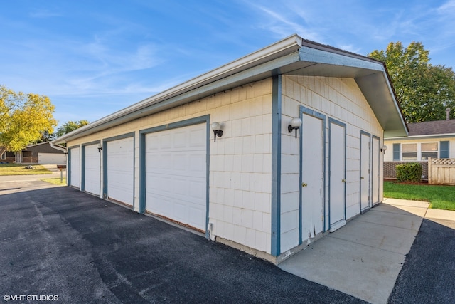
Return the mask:
<path id="1" fill-rule="evenodd" d="M 370 208 L 370 135 L 360 135 L 360 211 Z"/>

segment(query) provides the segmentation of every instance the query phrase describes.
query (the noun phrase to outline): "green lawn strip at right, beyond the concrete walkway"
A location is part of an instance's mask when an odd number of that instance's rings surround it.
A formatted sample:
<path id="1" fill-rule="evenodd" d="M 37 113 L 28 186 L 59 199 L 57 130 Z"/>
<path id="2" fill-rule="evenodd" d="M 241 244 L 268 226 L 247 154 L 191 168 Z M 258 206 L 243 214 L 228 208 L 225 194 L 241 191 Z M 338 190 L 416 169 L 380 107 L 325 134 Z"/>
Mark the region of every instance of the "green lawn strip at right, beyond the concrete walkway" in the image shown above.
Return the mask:
<path id="1" fill-rule="evenodd" d="M 455 186 L 402 184 L 384 181 L 384 197 L 429 201 L 430 208 L 455 210 Z"/>

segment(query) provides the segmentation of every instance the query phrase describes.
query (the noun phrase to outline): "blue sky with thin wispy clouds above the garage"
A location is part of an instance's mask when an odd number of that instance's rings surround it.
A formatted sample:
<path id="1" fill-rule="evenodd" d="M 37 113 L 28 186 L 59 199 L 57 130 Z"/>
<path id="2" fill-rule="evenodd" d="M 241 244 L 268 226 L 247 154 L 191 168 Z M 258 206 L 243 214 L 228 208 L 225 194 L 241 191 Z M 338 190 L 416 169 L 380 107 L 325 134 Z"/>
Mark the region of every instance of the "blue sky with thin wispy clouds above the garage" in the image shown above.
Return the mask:
<path id="1" fill-rule="evenodd" d="M 2 1 L 0 85 L 98 120 L 297 33 L 367 55 L 419 41 L 455 68 L 455 0 Z"/>

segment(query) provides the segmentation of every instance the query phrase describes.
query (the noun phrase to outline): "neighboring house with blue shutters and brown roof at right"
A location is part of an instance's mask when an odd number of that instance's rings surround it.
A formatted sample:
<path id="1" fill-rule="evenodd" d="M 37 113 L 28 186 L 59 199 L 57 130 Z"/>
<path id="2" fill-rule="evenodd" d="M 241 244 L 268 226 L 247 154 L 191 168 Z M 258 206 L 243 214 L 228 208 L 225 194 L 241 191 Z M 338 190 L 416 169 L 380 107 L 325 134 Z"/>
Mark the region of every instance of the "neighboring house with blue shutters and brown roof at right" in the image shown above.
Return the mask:
<path id="1" fill-rule="evenodd" d="M 455 158 L 455 120 L 410 123 L 409 136 L 385 140 L 384 177 L 395 179 L 397 164 L 419 162 L 423 179 L 428 178 L 428 157 Z"/>

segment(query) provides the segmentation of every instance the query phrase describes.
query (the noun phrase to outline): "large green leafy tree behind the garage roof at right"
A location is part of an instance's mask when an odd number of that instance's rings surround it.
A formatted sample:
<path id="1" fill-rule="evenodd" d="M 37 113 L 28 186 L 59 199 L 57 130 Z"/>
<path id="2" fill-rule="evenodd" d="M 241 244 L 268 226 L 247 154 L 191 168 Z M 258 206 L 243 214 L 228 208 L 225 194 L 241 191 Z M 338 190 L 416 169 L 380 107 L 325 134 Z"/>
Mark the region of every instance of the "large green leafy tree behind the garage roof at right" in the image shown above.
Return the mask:
<path id="1" fill-rule="evenodd" d="M 400 41 L 391 42 L 386 51 L 375 50 L 368 56 L 385 62 L 407 122 L 444 120 L 446 108 L 454 108 L 454 70 L 431 65 L 422 43 L 403 48 Z"/>

